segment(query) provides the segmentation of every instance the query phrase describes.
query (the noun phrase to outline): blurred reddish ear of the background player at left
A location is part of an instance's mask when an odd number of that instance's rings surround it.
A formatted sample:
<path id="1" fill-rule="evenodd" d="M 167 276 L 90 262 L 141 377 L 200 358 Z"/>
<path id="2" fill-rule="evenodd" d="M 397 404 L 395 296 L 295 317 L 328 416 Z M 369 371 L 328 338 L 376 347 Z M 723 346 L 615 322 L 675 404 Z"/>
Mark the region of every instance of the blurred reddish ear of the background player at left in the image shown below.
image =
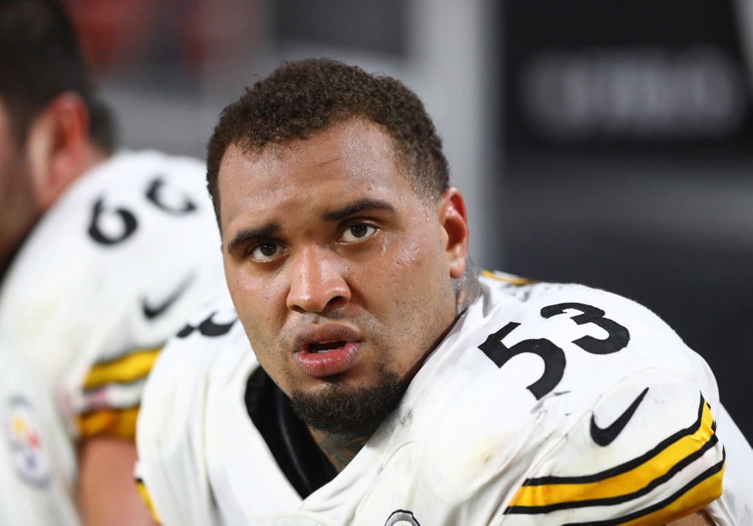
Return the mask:
<path id="1" fill-rule="evenodd" d="M 61 93 L 29 127 L 26 160 L 35 197 L 46 210 L 87 168 L 89 112 L 78 93 Z"/>

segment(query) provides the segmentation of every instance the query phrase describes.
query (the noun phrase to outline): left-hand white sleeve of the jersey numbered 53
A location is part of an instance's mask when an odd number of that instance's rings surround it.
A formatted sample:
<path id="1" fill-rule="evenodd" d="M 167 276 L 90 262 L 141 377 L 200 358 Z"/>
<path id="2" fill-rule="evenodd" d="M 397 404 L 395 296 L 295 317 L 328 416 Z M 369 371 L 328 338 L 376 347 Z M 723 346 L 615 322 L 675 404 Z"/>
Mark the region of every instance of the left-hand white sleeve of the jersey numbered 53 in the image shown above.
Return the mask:
<path id="1" fill-rule="evenodd" d="M 137 487 L 164 526 L 220 524 L 206 471 L 207 371 L 224 345 L 245 338 L 230 303 L 203 309 L 167 343 L 145 388 Z"/>

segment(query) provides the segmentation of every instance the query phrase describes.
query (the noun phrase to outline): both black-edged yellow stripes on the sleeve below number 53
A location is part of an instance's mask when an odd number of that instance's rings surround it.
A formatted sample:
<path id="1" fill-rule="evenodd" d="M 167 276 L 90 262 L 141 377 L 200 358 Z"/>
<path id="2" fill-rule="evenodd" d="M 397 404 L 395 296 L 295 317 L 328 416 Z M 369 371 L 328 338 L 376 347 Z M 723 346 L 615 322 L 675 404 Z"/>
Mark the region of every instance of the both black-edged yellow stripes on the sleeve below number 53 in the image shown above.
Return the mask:
<path id="1" fill-rule="evenodd" d="M 701 397 L 697 421 L 669 436 L 645 455 L 593 475 L 527 479 L 505 514 L 527 515 L 588 506 L 613 506 L 638 499 L 669 482 L 717 442 L 716 423 L 709 404 Z M 717 464 L 659 503 L 611 520 L 573 524 L 663 524 L 697 511 L 721 495 L 724 450 L 721 457 Z"/>

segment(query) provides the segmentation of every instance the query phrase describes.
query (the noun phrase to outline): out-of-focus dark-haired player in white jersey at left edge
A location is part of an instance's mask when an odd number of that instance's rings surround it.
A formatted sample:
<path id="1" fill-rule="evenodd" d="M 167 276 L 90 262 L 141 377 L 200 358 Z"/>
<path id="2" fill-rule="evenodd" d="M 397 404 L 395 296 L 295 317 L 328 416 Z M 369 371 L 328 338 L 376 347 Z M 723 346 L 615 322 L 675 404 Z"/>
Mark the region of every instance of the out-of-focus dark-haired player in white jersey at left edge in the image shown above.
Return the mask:
<path id="1" fill-rule="evenodd" d="M 65 15 L 3 0 L 4 526 L 151 522 L 133 485 L 145 377 L 224 288 L 203 163 L 113 149 Z"/>

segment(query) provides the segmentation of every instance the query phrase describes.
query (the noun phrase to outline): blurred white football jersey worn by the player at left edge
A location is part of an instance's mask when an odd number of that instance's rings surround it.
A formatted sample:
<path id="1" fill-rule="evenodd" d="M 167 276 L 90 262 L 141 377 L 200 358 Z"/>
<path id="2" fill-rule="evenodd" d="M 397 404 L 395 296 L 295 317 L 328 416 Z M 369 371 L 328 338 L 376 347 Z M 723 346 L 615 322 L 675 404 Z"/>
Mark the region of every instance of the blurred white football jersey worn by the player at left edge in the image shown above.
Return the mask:
<path id="1" fill-rule="evenodd" d="M 160 347 L 225 288 L 220 243 L 203 163 L 156 151 L 115 154 L 40 220 L 0 289 L 2 524 L 75 524 L 76 439 L 135 437 Z"/>

